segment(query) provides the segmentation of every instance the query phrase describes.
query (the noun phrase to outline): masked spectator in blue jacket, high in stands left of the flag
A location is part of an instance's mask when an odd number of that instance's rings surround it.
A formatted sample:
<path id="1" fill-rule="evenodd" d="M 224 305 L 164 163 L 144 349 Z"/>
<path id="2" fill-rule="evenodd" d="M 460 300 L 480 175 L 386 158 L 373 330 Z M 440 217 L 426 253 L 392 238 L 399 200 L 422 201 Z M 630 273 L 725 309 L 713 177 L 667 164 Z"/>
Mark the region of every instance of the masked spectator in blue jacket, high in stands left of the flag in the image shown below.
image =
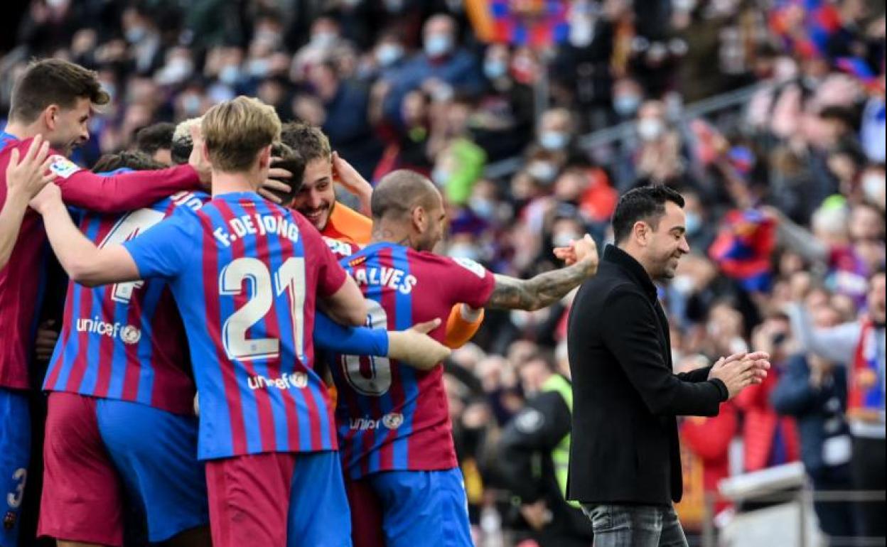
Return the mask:
<path id="1" fill-rule="evenodd" d="M 401 101 L 410 90 L 427 89 L 436 100 L 456 93 L 477 95 L 483 90 L 483 74 L 475 56 L 460 48 L 456 38 L 456 23 L 449 15 L 437 14 L 426 21 L 422 51 L 386 78 L 390 92 L 384 114 L 389 121 L 400 121 Z"/>

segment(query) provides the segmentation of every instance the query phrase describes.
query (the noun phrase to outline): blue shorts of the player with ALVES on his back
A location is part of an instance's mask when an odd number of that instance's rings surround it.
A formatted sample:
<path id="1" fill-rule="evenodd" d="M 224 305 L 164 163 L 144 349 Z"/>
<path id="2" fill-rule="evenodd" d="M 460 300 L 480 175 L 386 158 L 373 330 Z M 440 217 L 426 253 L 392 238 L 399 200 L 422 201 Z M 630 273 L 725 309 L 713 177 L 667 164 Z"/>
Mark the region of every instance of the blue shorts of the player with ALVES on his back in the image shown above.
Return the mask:
<path id="1" fill-rule="evenodd" d="M 365 477 L 382 504 L 387 547 L 472 547 L 465 483 L 459 468 L 385 471 Z"/>

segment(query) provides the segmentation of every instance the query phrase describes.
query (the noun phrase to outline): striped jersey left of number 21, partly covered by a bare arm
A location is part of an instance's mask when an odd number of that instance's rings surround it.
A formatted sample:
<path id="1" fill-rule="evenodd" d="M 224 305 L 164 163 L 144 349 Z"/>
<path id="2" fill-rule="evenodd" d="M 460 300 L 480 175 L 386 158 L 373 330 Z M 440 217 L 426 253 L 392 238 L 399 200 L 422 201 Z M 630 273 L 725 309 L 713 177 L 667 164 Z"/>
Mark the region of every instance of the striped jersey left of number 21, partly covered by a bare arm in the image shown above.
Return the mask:
<path id="1" fill-rule="evenodd" d="M 114 245 L 135 238 L 178 207 L 197 210 L 208 200 L 203 192 L 180 191 L 124 215 L 85 212 L 80 230 L 99 247 Z M 59 340 L 44 390 L 193 413 L 184 327 L 165 279 L 95 288 L 69 283 Z"/>

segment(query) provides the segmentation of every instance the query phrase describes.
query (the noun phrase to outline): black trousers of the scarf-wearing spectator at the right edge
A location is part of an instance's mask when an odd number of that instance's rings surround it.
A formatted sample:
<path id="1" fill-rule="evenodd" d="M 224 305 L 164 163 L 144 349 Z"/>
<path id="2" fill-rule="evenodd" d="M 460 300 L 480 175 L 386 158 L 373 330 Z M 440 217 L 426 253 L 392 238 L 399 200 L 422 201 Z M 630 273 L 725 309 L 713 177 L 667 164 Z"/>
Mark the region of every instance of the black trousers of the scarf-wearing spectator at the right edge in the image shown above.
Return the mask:
<path id="1" fill-rule="evenodd" d="M 853 437 L 853 458 L 850 462 L 853 488 L 857 490 L 884 490 L 884 451 L 883 439 Z M 878 502 L 860 502 L 857 511 L 860 514 L 860 535 L 881 537 L 887 535 L 887 519 L 884 510 L 887 504 Z"/>

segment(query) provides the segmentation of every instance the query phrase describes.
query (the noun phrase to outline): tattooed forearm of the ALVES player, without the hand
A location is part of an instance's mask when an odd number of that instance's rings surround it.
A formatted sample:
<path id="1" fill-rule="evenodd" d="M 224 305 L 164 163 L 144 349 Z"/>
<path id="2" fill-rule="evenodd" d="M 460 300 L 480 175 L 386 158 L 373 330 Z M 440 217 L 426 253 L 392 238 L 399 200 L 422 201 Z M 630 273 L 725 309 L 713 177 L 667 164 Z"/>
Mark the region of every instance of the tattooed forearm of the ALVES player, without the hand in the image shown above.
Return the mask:
<path id="1" fill-rule="evenodd" d="M 496 286 L 486 307 L 528 311 L 546 308 L 585 281 L 592 271 L 588 262 L 577 262 L 530 279 L 497 275 Z"/>

